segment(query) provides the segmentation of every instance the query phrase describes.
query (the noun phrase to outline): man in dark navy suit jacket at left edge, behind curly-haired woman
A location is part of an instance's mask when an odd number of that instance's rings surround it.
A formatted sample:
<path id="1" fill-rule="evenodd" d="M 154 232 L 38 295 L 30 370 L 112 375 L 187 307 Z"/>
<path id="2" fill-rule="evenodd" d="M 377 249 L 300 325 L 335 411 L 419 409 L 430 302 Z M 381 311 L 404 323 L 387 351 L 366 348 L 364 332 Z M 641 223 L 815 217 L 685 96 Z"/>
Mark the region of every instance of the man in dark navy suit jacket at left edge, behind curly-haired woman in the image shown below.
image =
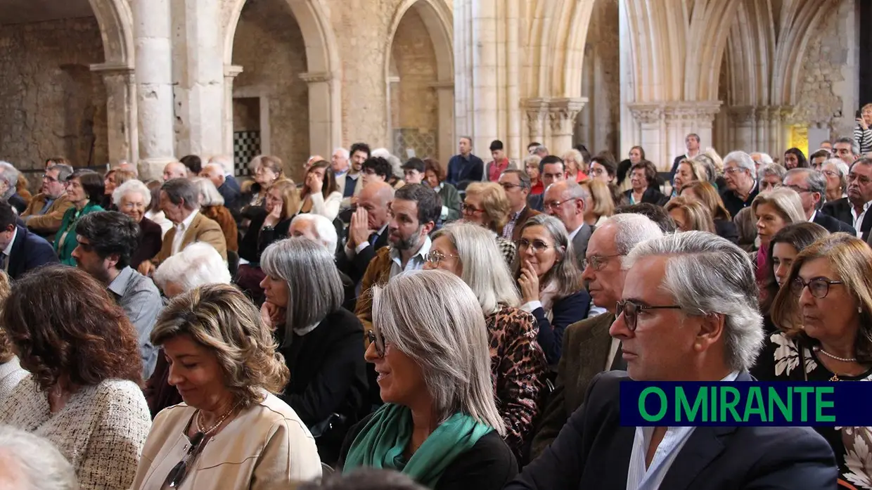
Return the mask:
<path id="1" fill-rule="evenodd" d="M 58 262 L 51 243 L 18 224 L 10 203 L 0 201 L 0 267 L 15 280 L 47 263 Z"/>

